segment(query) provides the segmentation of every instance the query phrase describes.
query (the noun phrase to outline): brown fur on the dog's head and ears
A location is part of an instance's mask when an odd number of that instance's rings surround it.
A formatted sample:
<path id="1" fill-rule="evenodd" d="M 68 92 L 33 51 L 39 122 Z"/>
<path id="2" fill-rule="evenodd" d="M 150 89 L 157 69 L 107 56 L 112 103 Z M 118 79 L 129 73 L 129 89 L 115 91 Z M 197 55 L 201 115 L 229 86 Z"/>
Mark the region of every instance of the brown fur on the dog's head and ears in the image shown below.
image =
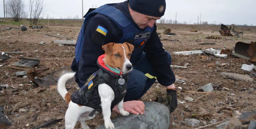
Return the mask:
<path id="1" fill-rule="evenodd" d="M 108 43 L 102 46 L 102 49 L 105 51 L 106 54 L 104 63 L 111 67 L 122 70 L 125 61 L 123 46 L 125 49 L 125 56 L 127 57 L 127 59 L 130 59 L 129 54 L 131 54 L 134 49 L 134 46 L 132 44 L 129 44 L 127 42 L 125 42 L 124 44 Z"/>

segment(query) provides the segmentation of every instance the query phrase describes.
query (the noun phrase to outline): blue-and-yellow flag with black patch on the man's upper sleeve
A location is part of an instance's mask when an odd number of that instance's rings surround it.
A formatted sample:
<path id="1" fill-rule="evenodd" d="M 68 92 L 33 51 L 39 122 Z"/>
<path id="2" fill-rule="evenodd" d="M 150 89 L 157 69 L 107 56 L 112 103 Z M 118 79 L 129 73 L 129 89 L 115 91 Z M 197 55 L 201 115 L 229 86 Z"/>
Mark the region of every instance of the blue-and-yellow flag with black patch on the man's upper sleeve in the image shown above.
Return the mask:
<path id="1" fill-rule="evenodd" d="M 93 33 L 92 42 L 99 46 L 102 46 L 104 43 L 105 37 L 107 36 L 107 32 L 108 32 L 107 29 L 98 25 L 98 27 Z"/>

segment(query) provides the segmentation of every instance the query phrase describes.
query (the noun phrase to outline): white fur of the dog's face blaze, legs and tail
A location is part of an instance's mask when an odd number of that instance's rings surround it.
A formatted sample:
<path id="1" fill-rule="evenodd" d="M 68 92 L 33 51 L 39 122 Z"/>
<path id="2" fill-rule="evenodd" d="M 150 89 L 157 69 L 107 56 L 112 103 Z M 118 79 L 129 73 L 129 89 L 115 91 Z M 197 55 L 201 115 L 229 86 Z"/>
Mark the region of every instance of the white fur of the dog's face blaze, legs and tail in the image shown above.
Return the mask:
<path id="1" fill-rule="evenodd" d="M 122 46 L 123 47 L 123 46 Z M 124 49 L 124 47 L 123 47 Z M 124 55 L 125 55 L 125 49 L 124 49 Z M 131 71 L 126 69 L 126 65 L 131 64 L 130 60 L 127 59 L 125 55 L 124 60 L 124 67 L 122 71 Z M 65 114 L 65 128 L 66 129 L 73 129 L 77 122 L 81 122 L 83 129 L 89 129 L 89 126 L 85 123 L 86 120 L 93 119 L 93 117 L 89 117 L 89 113 L 92 112 L 93 108 L 77 105 L 76 103 L 73 103 L 70 99 L 70 93 L 65 88 L 65 84 L 68 79 L 71 79 L 74 77 L 75 72 L 66 73 L 60 77 L 58 80 L 58 92 L 63 97 L 64 100 L 66 100 L 68 104 L 68 109 Z M 114 124 L 111 122 L 110 116 L 111 116 L 111 102 L 114 100 L 114 91 L 111 87 L 107 84 L 100 84 L 98 86 L 98 91 L 100 95 L 100 101 L 101 101 L 101 107 L 102 107 L 102 114 L 104 118 L 104 124 L 106 129 L 114 129 Z M 128 116 L 129 112 L 125 111 L 123 108 L 123 100 L 117 104 L 117 108 L 121 115 Z M 96 112 L 98 113 L 98 112 Z M 95 113 L 95 114 L 96 114 Z"/>

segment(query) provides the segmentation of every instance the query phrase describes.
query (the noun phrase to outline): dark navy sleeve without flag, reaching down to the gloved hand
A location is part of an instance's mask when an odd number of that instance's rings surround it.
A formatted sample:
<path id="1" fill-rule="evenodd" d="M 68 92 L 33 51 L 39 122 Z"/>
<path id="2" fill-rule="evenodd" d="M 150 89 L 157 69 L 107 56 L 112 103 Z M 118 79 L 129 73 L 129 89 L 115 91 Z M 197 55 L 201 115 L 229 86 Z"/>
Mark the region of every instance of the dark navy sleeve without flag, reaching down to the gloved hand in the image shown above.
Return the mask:
<path id="1" fill-rule="evenodd" d="M 144 52 L 146 52 L 146 57 L 156 74 L 157 81 L 163 86 L 169 86 L 174 84 L 175 76 L 156 28 L 157 26 L 154 25 L 154 30 L 144 48 Z"/>

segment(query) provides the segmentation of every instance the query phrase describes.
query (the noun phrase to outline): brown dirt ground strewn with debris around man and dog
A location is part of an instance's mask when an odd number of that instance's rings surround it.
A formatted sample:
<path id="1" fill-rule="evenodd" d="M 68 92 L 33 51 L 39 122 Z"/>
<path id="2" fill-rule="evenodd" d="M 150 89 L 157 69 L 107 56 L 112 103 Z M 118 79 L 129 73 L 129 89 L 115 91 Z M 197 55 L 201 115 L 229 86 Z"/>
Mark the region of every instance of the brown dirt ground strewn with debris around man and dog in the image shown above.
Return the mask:
<path id="1" fill-rule="evenodd" d="M 82 25 L 82 23 L 81 23 Z M 72 63 L 74 58 L 74 45 L 59 46 L 53 44 L 54 40 L 65 40 L 65 38 L 58 38 L 47 36 L 45 33 L 52 34 L 60 37 L 73 37 L 76 40 L 80 27 L 66 27 L 66 26 L 47 26 L 42 29 L 31 29 L 25 25 L 28 30 L 22 32 L 20 29 L 2 30 L 6 27 L 18 27 L 17 25 L 0 25 L 0 51 L 1 52 L 23 52 L 24 54 L 9 54 L 11 59 L 0 62 L 0 84 L 8 84 L 7 89 L 0 91 L 0 104 L 4 109 L 7 117 L 11 122 L 9 129 L 16 128 L 33 128 L 50 120 L 51 118 L 60 119 L 60 122 L 48 127 L 49 129 L 64 127 L 64 116 L 67 110 L 67 103 L 61 98 L 57 90 L 54 88 L 41 88 L 31 83 L 28 78 L 16 76 L 15 73 L 18 69 L 10 69 L 6 66 L 19 61 L 19 57 L 39 59 L 40 64 L 36 68 L 49 68 L 38 78 L 45 77 L 50 73 L 68 66 Z M 164 29 L 170 28 L 176 35 L 162 34 Z M 178 91 L 178 107 L 171 113 L 170 128 L 195 128 L 184 122 L 185 118 L 194 118 L 199 120 L 200 126 L 204 126 L 203 122 L 207 125 L 210 121 L 220 122 L 222 120 L 229 120 L 232 117 L 238 118 L 245 112 L 256 111 L 256 91 L 250 90 L 256 88 L 254 72 L 245 72 L 241 70 L 242 64 L 255 64 L 245 59 L 240 59 L 233 55 L 228 59 L 220 59 L 211 55 L 206 55 L 208 58 L 202 60 L 198 55 L 174 55 L 173 52 L 201 50 L 214 48 L 221 50 L 224 47 L 232 49 L 237 42 L 256 41 L 256 28 L 255 27 L 239 27 L 239 31 L 244 31 L 244 36 L 241 39 L 237 37 L 221 36 L 218 32 L 220 25 L 200 26 L 195 25 L 193 29 L 198 32 L 190 32 L 191 25 L 158 25 L 158 32 L 161 33 L 161 39 L 178 39 L 179 41 L 170 42 L 162 41 L 165 50 L 172 55 L 172 65 L 187 66 L 188 69 L 173 68 L 173 72 L 178 77 L 185 78 L 183 81 L 176 81 L 176 87 L 182 87 L 186 91 L 196 91 L 208 83 L 222 82 L 222 84 L 213 90 L 211 93 L 186 92 L 183 90 Z M 213 31 L 213 32 L 212 32 Z M 59 33 L 59 35 L 57 34 Z M 9 37 L 8 37 L 9 36 Z M 206 39 L 208 36 L 220 36 L 223 39 Z M 44 44 L 39 42 L 44 41 Z M 200 43 L 215 43 L 215 45 L 200 45 Z M 219 63 L 228 63 L 229 65 L 217 66 L 216 61 Z M 251 76 L 253 82 L 242 82 L 233 79 L 225 79 L 220 76 L 221 72 L 231 72 Z M 181 80 L 181 79 L 180 79 Z M 19 86 L 23 84 L 22 86 Z M 69 92 L 73 93 L 77 89 L 77 85 L 69 85 Z M 224 87 L 224 88 L 223 88 Z M 241 91 L 246 88 L 245 91 Z M 10 92 L 10 90 L 19 90 L 18 92 Z M 165 95 L 165 87 L 157 82 L 149 89 L 149 91 L 141 98 L 143 101 L 154 100 L 157 95 Z M 205 95 L 205 96 L 203 96 Z M 203 96 L 203 97 L 202 97 Z M 185 97 L 193 99 L 199 98 L 194 101 L 183 101 Z M 184 103 L 180 103 L 184 102 Z M 229 105 L 231 108 L 218 109 Z M 19 112 L 19 109 L 23 111 Z M 118 114 L 112 113 L 112 118 Z M 204 116 L 205 115 L 205 116 Z M 37 117 L 35 117 L 37 116 Z M 33 120 L 36 118 L 35 120 Z M 247 122 L 256 120 L 256 115 L 252 114 L 248 118 L 239 119 L 240 122 Z M 87 122 L 91 128 L 97 128 L 103 123 L 102 116 L 99 115 L 95 119 Z M 248 124 L 248 123 L 247 123 Z M 243 125 L 246 128 L 248 125 Z M 216 125 L 211 125 L 205 128 L 216 128 Z M 80 123 L 77 123 L 76 128 L 81 128 Z"/>

